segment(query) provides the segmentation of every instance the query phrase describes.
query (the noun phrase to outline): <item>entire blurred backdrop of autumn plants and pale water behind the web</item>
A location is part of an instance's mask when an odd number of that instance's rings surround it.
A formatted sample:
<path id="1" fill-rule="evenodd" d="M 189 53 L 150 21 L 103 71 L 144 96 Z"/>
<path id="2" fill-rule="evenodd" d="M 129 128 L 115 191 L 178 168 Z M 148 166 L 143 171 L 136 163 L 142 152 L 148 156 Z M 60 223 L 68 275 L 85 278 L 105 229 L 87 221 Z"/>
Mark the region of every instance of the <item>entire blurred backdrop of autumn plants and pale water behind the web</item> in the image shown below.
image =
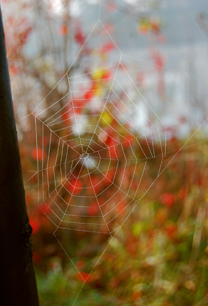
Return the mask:
<path id="1" fill-rule="evenodd" d="M 207 2 L 1 5 L 40 305 L 207 305 Z"/>

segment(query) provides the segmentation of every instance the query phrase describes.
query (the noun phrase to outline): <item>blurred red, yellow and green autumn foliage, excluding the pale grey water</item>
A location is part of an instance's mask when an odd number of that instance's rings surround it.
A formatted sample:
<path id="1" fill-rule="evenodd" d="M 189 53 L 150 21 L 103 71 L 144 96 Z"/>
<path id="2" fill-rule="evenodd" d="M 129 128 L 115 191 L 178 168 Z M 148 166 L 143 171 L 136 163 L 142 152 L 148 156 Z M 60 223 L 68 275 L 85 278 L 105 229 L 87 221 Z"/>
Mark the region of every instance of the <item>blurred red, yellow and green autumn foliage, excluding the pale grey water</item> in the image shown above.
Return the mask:
<path id="1" fill-rule="evenodd" d="M 107 11 L 116 9 L 109 1 Z M 22 76 L 28 77 L 26 88 L 15 91 L 14 104 L 16 117 L 26 116 L 18 122 L 19 146 L 42 305 L 71 305 L 83 284 L 83 306 L 197 304 L 207 296 L 208 142 L 196 133 L 181 149 L 189 136 L 178 137 L 175 127 L 161 128 L 161 137 L 158 131 L 144 137 L 133 130 L 133 117 L 123 119 L 131 105 L 128 86 L 114 89 L 105 100 L 115 71 L 125 75 L 130 70 L 118 59 L 106 65 L 117 50 L 108 36 L 113 24 L 106 20 L 104 41 L 90 44 L 83 24 L 72 19 L 61 15 L 54 31 L 63 56 L 68 37 L 79 50 L 69 72 L 67 61 L 57 68 L 51 46 L 40 58 L 26 56 L 34 31 L 29 18 L 6 20 L 14 89 Z M 138 35 L 153 41 L 148 52 L 164 103 L 166 58 L 155 46 L 166 43 L 163 22 L 141 14 L 136 27 Z M 98 65 L 91 69 L 95 59 Z M 76 82 L 64 83 L 74 71 L 85 77 L 76 90 L 70 87 Z M 146 80 L 146 71 L 134 73 L 141 92 Z M 39 108 L 36 95 L 44 101 Z M 99 99 L 106 101 L 105 108 Z M 82 116 L 83 126 L 97 125 L 96 133 L 89 129 L 78 137 L 75 118 Z M 148 128 L 155 123 L 151 120 Z"/>

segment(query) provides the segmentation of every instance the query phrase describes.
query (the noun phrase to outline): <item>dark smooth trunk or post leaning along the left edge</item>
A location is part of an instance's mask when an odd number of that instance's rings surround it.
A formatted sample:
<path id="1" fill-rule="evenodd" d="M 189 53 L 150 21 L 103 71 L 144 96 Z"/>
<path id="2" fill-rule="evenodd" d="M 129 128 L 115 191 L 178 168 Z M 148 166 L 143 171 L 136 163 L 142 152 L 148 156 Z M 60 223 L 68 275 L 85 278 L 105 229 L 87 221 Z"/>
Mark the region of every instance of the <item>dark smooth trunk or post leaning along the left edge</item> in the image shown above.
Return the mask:
<path id="1" fill-rule="evenodd" d="M 1 7 L 0 157 L 0 304 L 38 306 L 32 227 L 21 173 Z"/>

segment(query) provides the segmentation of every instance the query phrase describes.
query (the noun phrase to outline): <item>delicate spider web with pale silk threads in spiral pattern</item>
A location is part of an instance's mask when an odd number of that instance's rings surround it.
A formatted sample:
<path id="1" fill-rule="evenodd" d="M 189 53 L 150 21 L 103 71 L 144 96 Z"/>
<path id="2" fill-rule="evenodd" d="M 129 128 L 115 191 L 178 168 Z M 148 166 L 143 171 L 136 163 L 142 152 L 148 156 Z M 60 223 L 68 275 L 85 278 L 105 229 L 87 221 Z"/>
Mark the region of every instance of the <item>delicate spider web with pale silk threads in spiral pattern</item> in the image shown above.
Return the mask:
<path id="1" fill-rule="evenodd" d="M 99 36 L 94 41 L 93 34 L 101 32 L 105 32 L 106 39 L 117 50 L 117 64 L 99 68 L 103 64 L 97 61 L 98 68 L 92 65 L 87 73 L 72 72 L 86 43 L 98 44 Z M 53 224 L 53 235 L 82 277 L 83 286 L 89 276 L 83 277 L 59 239 L 58 231 L 100 233 L 109 237 L 101 256 L 91 267 L 90 273 L 93 272 L 138 203 L 207 120 L 174 155 L 167 155 L 168 126 L 134 83 L 124 57 L 99 17 L 71 67 L 56 85 L 67 84 L 67 92 L 54 100 L 55 86 L 29 115 L 36 139 L 37 169 L 32 177 L 37 178 L 38 205 L 42 208 L 44 203 L 47 207 L 44 214 Z M 86 97 L 91 83 L 91 95 Z M 124 84 L 128 84 L 127 88 Z M 131 96 L 132 88 L 137 99 L 148 108 L 148 115 Z M 50 101 L 47 107 L 46 100 Z M 158 169 L 154 159 L 160 159 Z M 152 181 L 141 190 L 141 182 L 150 171 Z"/>

